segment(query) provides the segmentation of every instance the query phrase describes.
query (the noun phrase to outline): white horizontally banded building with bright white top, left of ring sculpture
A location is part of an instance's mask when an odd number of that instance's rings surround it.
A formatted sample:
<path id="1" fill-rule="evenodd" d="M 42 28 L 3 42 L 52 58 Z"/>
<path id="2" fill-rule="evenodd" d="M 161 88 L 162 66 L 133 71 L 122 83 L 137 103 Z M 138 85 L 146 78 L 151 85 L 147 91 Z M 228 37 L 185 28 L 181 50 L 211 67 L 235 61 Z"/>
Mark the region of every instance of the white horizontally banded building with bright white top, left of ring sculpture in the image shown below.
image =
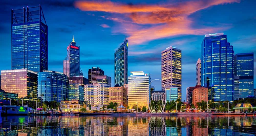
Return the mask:
<path id="1" fill-rule="evenodd" d="M 151 82 L 150 74 L 143 71 L 131 72 L 128 77 L 128 105 L 132 108 L 138 105 L 139 108 L 146 106 L 148 108 L 148 101 L 150 92 L 148 85 Z M 147 98 L 148 96 L 148 98 Z"/>

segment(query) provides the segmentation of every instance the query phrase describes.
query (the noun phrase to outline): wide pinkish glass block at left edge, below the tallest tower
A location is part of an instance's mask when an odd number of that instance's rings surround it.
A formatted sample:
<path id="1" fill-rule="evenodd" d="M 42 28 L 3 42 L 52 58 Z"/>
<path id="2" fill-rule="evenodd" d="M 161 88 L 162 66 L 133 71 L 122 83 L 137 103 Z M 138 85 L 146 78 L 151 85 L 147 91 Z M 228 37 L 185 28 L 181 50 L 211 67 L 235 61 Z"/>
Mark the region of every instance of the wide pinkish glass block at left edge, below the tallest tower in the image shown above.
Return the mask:
<path id="1" fill-rule="evenodd" d="M 37 72 L 29 69 L 1 70 L 1 88 L 20 98 L 37 100 Z"/>

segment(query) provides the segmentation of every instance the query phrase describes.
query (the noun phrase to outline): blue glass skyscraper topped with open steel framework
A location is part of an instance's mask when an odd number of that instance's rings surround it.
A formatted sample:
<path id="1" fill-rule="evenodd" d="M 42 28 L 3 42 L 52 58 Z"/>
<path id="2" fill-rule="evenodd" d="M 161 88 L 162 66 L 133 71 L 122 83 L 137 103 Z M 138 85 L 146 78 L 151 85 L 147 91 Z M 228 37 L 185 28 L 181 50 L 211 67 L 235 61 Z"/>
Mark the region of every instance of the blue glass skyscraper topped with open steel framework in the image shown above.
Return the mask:
<path id="1" fill-rule="evenodd" d="M 48 26 L 41 6 L 11 10 L 12 69 L 48 70 Z"/>

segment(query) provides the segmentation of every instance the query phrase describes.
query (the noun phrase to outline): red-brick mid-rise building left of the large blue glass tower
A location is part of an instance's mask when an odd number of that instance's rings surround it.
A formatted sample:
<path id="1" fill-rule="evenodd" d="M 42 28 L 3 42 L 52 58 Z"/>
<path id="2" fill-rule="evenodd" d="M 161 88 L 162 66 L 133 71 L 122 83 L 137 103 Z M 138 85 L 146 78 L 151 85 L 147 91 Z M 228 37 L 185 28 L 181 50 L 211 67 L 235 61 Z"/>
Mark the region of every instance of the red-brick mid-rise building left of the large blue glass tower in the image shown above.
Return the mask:
<path id="1" fill-rule="evenodd" d="M 198 108 L 196 103 L 202 100 L 208 101 L 208 88 L 199 87 L 198 85 L 192 92 L 192 104 Z"/>

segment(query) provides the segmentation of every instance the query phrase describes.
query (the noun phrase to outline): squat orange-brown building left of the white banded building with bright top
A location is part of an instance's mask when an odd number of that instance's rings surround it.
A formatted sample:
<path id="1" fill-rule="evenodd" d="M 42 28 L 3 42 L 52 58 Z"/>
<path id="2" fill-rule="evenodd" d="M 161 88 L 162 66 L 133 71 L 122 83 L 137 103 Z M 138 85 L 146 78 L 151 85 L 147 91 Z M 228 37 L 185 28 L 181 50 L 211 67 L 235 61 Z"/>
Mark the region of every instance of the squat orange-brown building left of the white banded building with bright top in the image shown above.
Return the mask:
<path id="1" fill-rule="evenodd" d="M 109 101 L 117 103 L 117 107 L 123 105 L 127 108 L 127 90 L 123 86 L 109 87 Z"/>

